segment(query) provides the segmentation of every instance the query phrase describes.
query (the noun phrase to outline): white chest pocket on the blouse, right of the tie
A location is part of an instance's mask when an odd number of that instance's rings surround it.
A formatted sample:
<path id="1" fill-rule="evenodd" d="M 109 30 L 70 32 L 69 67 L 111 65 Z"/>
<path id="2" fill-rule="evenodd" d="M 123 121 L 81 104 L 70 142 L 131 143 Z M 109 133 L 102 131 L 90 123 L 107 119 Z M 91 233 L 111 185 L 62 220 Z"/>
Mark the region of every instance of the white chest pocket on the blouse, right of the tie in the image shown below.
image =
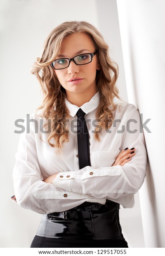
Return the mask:
<path id="1" fill-rule="evenodd" d="M 120 151 L 92 151 L 90 153 L 91 166 L 93 168 L 112 166 Z"/>

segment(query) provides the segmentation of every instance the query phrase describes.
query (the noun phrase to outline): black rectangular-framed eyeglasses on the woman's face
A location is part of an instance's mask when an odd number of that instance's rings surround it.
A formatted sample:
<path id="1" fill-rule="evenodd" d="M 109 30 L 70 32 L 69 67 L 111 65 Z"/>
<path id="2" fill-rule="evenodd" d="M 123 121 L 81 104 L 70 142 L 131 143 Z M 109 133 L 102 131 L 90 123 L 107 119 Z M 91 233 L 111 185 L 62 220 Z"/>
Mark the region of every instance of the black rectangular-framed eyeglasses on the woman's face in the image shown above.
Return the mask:
<path id="1" fill-rule="evenodd" d="M 85 64 L 92 62 L 92 58 L 96 53 L 97 52 L 76 55 L 72 59 L 68 59 L 68 58 L 55 59 L 54 62 L 52 62 L 50 65 L 54 69 L 66 69 L 70 65 L 71 60 L 73 60 L 73 62 L 76 65 L 85 65 Z"/>

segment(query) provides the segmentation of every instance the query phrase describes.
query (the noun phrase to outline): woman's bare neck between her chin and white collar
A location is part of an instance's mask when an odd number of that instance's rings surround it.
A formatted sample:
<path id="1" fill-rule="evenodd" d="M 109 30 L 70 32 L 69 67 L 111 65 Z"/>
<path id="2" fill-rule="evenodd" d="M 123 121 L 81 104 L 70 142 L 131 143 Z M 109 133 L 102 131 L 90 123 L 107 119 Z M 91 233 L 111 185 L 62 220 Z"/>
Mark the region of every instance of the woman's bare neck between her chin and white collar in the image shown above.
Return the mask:
<path id="1" fill-rule="evenodd" d="M 97 90 L 95 90 L 92 94 L 87 95 L 87 92 L 82 93 L 67 93 L 67 100 L 71 102 L 71 104 L 81 107 L 86 102 L 89 102 L 91 98 L 95 95 Z"/>

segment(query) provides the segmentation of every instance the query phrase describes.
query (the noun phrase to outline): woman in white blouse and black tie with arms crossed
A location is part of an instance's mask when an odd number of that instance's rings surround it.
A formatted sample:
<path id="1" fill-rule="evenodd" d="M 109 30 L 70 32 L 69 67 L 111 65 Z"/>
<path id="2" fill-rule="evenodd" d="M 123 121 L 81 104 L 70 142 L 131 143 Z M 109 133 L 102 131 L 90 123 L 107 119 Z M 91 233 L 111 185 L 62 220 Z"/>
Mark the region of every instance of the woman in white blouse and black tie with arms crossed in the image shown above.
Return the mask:
<path id="1" fill-rule="evenodd" d="M 108 45 L 91 24 L 64 22 L 32 73 L 44 100 L 25 120 L 13 174 L 13 198 L 42 214 L 31 247 L 128 247 L 119 205 L 134 206 L 146 149 L 138 110 L 114 103 Z"/>

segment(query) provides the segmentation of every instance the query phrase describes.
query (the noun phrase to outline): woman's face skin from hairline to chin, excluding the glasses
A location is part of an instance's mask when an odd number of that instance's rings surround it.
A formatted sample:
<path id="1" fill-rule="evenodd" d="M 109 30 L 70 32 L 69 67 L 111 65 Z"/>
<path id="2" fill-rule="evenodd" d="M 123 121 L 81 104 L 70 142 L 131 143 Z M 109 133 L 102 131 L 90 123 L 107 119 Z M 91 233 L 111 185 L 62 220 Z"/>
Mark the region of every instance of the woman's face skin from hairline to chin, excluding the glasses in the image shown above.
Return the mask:
<path id="1" fill-rule="evenodd" d="M 60 51 L 56 59 L 61 57 L 73 58 L 83 53 L 93 53 L 96 49 L 94 44 L 86 33 L 74 33 L 64 38 L 61 43 Z M 66 97 L 70 102 L 74 98 L 81 97 L 89 101 L 97 92 L 96 88 L 96 71 L 99 69 L 97 64 L 97 54 L 94 55 L 92 62 L 85 65 L 76 65 L 71 61 L 65 69 L 56 69 L 54 72 L 66 90 Z M 71 81 L 76 78 L 78 80 Z"/>

